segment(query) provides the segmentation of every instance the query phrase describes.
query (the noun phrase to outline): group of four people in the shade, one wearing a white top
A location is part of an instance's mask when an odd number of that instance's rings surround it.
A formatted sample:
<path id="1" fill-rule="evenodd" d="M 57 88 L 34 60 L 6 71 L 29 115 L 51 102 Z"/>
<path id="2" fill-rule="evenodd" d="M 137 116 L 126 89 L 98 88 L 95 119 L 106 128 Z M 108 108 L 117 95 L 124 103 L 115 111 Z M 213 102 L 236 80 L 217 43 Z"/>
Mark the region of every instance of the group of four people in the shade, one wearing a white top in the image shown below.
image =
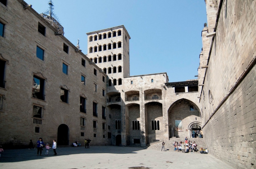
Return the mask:
<path id="1" fill-rule="evenodd" d="M 56 143 L 56 140 L 53 140 L 53 144 L 52 144 L 52 147 L 50 147 L 50 144 L 46 144 L 43 142 L 43 139 L 40 137 L 39 140 L 36 142 L 37 144 L 37 156 L 39 155 L 39 152 L 40 152 L 40 156 L 42 156 L 42 150 L 43 150 L 43 147 L 45 146 L 45 149 L 46 149 L 46 152 L 45 152 L 45 156 L 48 156 L 48 153 L 49 153 L 49 149 L 52 148 L 53 149 L 53 152 L 54 152 L 54 155 L 56 156 L 57 153 L 56 153 L 56 148 L 57 148 L 57 143 Z M 33 145 L 33 142 L 32 140 L 30 140 L 29 142 L 29 150 L 30 149 L 35 149 L 34 145 Z M 1 155 L 0 155 L 1 156 Z"/>

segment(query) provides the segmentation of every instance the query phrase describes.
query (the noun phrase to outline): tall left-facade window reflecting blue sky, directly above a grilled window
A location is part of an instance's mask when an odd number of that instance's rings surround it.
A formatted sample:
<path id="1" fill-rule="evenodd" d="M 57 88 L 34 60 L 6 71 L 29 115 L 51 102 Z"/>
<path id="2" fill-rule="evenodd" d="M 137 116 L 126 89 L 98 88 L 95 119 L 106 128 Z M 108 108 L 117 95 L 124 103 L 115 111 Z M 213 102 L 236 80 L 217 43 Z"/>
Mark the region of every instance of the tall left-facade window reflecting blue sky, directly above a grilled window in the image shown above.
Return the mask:
<path id="1" fill-rule="evenodd" d="M 33 86 L 32 86 L 32 97 L 40 100 L 45 100 L 44 86 L 45 86 L 45 80 L 34 75 Z"/>

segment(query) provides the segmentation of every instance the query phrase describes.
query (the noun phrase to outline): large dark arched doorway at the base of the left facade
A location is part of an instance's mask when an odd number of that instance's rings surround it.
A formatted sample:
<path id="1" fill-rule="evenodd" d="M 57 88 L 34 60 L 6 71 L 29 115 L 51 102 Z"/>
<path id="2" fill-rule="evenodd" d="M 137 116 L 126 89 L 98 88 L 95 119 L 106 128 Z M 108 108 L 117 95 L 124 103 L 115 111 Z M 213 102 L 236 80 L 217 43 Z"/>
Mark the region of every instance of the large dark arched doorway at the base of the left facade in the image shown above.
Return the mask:
<path id="1" fill-rule="evenodd" d="M 69 128 L 66 124 L 61 124 L 58 127 L 58 136 L 57 136 L 58 145 L 69 145 Z"/>

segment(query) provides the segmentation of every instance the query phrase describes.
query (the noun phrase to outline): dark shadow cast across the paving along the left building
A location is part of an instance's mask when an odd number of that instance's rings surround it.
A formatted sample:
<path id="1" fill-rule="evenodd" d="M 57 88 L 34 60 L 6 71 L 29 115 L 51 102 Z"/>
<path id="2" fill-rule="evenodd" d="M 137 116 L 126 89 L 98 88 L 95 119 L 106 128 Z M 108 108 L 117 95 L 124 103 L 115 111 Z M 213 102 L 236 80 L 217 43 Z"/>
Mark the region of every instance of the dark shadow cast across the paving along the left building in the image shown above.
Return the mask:
<path id="1" fill-rule="evenodd" d="M 97 153 L 110 153 L 110 154 L 135 154 L 136 151 L 144 150 L 141 147 L 118 147 L 118 146 L 91 146 L 85 147 L 57 147 L 57 156 L 68 156 L 73 154 L 97 154 Z M 45 156 L 46 149 L 43 148 L 42 156 L 37 155 L 37 149 L 6 149 L 2 152 L 0 163 L 3 162 L 21 162 L 37 159 L 47 159 L 55 157 L 52 148 L 49 150 L 49 155 Z"/>

